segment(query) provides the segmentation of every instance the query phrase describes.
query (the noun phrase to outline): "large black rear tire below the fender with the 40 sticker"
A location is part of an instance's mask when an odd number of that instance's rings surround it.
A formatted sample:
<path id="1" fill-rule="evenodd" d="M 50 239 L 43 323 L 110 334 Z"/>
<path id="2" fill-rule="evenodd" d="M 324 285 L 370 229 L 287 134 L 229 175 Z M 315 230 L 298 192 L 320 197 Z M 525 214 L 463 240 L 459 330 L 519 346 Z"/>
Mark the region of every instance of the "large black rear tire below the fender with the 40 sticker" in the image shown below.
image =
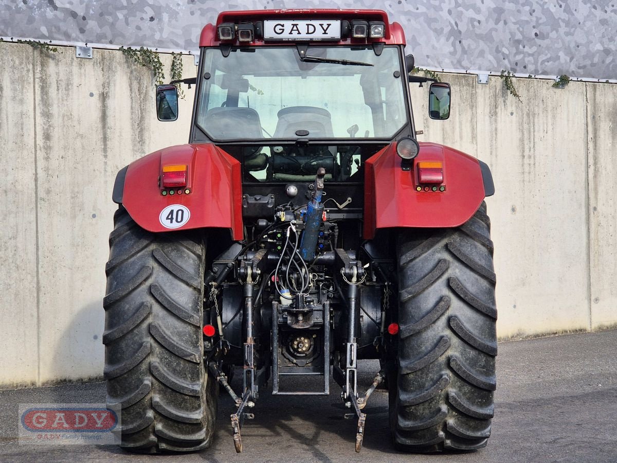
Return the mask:
<path id="1" fill-rule="evenodd" d="M 107 403 L 122 404 L 123 448 L 207 448 L 218 388 L 204 367 L 205 244 L 186 231 L 150 233 L 125 209 L 109 236 L 103 343 Z"/>

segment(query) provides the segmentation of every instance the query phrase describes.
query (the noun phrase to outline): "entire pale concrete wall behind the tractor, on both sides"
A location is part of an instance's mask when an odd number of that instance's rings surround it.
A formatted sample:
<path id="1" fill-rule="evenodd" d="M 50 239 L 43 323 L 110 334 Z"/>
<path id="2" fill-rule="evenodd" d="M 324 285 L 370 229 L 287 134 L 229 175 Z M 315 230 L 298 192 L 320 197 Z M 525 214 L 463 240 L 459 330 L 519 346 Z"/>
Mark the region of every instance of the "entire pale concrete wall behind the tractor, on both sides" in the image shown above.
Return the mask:
<path id="1" fill-rule="evenodd" d="M 121 52 L 77 59 L 73 48 L 0 43 L 0 56 L 0 384 L 94 377 L 115 174 L 187 140 L 193 91 L 180 120 L 162 123 L 149 71 Z M 429 120 L 427 87 L 412 85 L 417 128 L 492 169 L 499 336 L 617 323 L 617 86 L 516 79 L 519 102 L 500 78 L 442 78 L 452 116 Z"/>

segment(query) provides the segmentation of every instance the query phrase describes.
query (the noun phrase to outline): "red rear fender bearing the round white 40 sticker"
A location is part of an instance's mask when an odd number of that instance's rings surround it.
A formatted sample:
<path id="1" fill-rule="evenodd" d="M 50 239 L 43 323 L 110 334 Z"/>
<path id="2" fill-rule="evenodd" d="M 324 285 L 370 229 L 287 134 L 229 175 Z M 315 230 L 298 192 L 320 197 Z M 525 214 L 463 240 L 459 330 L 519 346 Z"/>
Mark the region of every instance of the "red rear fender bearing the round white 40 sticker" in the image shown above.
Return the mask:
<path id="1" fill-rule="evenodd" d="M 181 194 L 161 194 L 163 165 L 188 166 L 188 185 Z M 160 214 L 167 206 L 186 207 L 189 219 L 173 230 L 230 228 L 242 240 L 242 178 L 240 163 L 213 144 L 181 144 L 155 151 L 128 166 L 122 204 L 133 220 L 149 231 L 170 231 Z M 188 188 L 189 194 L 184 193 Z"/>

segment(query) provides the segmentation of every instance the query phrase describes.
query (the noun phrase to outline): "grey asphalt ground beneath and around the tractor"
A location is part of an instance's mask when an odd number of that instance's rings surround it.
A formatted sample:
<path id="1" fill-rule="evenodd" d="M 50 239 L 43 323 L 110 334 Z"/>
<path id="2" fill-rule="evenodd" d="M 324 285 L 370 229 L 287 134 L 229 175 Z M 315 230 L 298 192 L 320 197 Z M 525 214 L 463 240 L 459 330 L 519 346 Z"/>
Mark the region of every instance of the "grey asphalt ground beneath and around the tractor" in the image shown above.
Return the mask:
<path id="1" fill-rule="evenodd" d="M 360 364 L 365 389 L 378 362 Z M 470 453 L 415 455 L 392 448 L 387 392 L 377 390 L 365 408 L 366 432 L 354 451 L 355 420 L 343 418 L 339 388 L 330 396 L 262 393 L 255 419 L 242 428 L 244 452 L 234 451 L 230 413 L 221 395 L 217 434 L 195 454 L 144 456 L 116 446 L 24 445 L 17 440 L 20 403 L 102 403 L 104 383 L 0 391 L 0 461 L 130 462 L 617 462 L 617 330 L 499 344 L 492 436 Z M 239 387 L 238 380 L 233 385 Z"/>

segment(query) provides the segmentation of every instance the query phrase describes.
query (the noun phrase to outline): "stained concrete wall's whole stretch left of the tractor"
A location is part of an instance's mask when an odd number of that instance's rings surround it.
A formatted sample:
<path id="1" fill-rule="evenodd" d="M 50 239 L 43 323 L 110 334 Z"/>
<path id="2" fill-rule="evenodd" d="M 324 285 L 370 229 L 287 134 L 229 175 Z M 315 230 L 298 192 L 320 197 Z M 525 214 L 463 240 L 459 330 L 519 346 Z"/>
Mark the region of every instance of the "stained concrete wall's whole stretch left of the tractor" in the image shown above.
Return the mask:
<path id="1" fill-rule="evenodd" d="M 0 384 L 98 376 L 115 175 L 186 143 L 193 91 L 163 123 L 151 74 L 121 52 L 0 43 L 0 56 Z M 193 77 L 193 57 L 183 65 Z"/>

